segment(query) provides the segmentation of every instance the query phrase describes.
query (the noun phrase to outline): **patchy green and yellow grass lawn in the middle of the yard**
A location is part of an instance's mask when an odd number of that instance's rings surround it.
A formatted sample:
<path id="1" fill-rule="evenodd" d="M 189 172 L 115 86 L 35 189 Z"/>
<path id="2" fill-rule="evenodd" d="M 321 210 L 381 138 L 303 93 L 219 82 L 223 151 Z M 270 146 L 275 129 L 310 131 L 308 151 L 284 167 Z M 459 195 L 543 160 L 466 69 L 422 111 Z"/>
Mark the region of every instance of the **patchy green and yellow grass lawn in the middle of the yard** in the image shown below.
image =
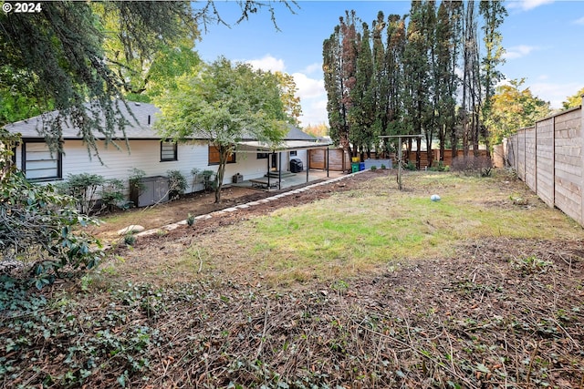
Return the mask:
<path id="1" fill-rule="evenodd" d="M 140 263 L 133 270 L 155 283 L 220 271 L 229 277 L 243 276 L 248 282 L 258 282 L 260 277 L 262 282 L 281 286 L 332 282 L 413 260 L 449 258 L 459 242 L 469 239 L 582 236 L 577 223 L 549 209 L 510 177 L 421 172 L 408 175 L 405 185 L 399 191 L 387 177 L 370 179 L 358 189 L 334 193 L 328 199 L 279 208 L 213 234 L 198 235 L 188 242 L 187 250 L 184 242 L 174 241 L 162 250 L 154 242 L 148 259 L 127 265 L 133 268 Z M 434 193 L 440 201 L 430 200 Z M 128 255 L 134 257 L 131 252 Z M 120 266 L 124 269 L 125 265 Z M 119 272 L 122 277 L 128 275 L 128 271 Z"/>

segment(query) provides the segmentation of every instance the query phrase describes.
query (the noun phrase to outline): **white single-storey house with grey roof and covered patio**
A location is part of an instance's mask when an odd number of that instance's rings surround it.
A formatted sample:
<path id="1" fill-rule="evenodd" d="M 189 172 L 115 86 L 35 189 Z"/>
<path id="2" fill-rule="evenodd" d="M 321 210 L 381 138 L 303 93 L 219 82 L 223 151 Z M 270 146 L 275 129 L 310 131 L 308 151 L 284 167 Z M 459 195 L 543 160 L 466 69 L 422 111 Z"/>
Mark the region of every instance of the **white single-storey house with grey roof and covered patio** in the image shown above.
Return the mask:
<path id="1" fill-rule="evenodd" d="M 203 184 L 193 179 L 193 169 L 217 170 L 219 154 L 208 138 L 189 139 L 188 142 L 174 143 L 171 139 L 161 138 L 153 128 L 160 109 L 146 103 L 130 102 L 133 114 L 122 109 L 130 123 L 125 128 L 129 148 L 123 134 L 117 137 L 120 148 L 106 145 L 99 139 L 99 158 L 91 155 L 78 135 L 78 128 L 62 128 L 62 153 L 51 154 L 45 138 L 37 128 L 42 127 L 42 117 L 29 118 L 5 128 L 11 133 L 20 133 L 22 141 L 15 150 L 14 161 L 26 178 L 36 182 L 53 182 L 67 179 L 68 175 L 95 173 L 106 179 L 121 179 L 128 182 L 133 168 L 141 169 L 146 177 L 165 176 L 169 170 L 179 170 L 190 183 L 186 192 L 203 189 Z M 318 142 L 290 126 L 287 136 L 277 149 L 266 147 L 256 139 L 243 139 L 237 151 L 227 163 L 224 183 L 232 181 L 233 176 L 243 179 L 259 179 L 269 170 L 287 172 L 292 159 L 300 159 L 308 167 L 308 149 L 328 148 L 328 142 Z"/>

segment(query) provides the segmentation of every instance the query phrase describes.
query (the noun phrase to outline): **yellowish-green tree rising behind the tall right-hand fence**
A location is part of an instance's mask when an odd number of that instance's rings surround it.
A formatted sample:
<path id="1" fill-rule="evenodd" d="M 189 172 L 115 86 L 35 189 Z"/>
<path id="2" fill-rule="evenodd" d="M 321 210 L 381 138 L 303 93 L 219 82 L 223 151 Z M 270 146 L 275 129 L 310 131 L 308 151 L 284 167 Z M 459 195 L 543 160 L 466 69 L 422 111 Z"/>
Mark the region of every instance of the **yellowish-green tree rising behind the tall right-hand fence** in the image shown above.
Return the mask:
<path id="1" fill-rule="evenodd" d="M 527 87 L 521 89 L 525 78 L 509 81 L 509 85 L 496 87 L 492 97 L 490 115 L 486 125 L 491 128 L 491 142 L 501 143 L 519 128 L 533 126 L 540 118 L 551 113 L 549 103 L 531 94 Z"/>

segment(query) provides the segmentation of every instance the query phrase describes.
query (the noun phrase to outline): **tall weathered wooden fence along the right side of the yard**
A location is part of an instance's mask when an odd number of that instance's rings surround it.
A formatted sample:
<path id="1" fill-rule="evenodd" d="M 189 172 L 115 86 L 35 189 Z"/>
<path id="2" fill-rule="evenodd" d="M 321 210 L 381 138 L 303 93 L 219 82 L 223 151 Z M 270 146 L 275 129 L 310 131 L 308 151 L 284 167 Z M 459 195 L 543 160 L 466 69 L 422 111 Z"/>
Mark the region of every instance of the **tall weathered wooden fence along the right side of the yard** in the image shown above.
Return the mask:
<path id="1" fill-rule="evenodd" d="M 521 128 L 507 139 L 506 162 L 549 207 L 584 226 L 582 107 Z"/>

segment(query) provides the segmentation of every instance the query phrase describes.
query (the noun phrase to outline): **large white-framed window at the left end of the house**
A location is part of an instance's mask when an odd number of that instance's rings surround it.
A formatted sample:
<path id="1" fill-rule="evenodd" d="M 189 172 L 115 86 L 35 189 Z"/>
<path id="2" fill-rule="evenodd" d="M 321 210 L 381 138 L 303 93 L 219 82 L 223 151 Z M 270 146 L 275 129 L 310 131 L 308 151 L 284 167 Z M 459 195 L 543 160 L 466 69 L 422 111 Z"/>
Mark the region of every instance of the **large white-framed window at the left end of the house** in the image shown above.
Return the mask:
<path id="1" fill-rule="evenodd" d="M 31 181 L 62 179 L 61 153 L 51 155 L 45 142 L 23 142 L 22 169 Z"/>

